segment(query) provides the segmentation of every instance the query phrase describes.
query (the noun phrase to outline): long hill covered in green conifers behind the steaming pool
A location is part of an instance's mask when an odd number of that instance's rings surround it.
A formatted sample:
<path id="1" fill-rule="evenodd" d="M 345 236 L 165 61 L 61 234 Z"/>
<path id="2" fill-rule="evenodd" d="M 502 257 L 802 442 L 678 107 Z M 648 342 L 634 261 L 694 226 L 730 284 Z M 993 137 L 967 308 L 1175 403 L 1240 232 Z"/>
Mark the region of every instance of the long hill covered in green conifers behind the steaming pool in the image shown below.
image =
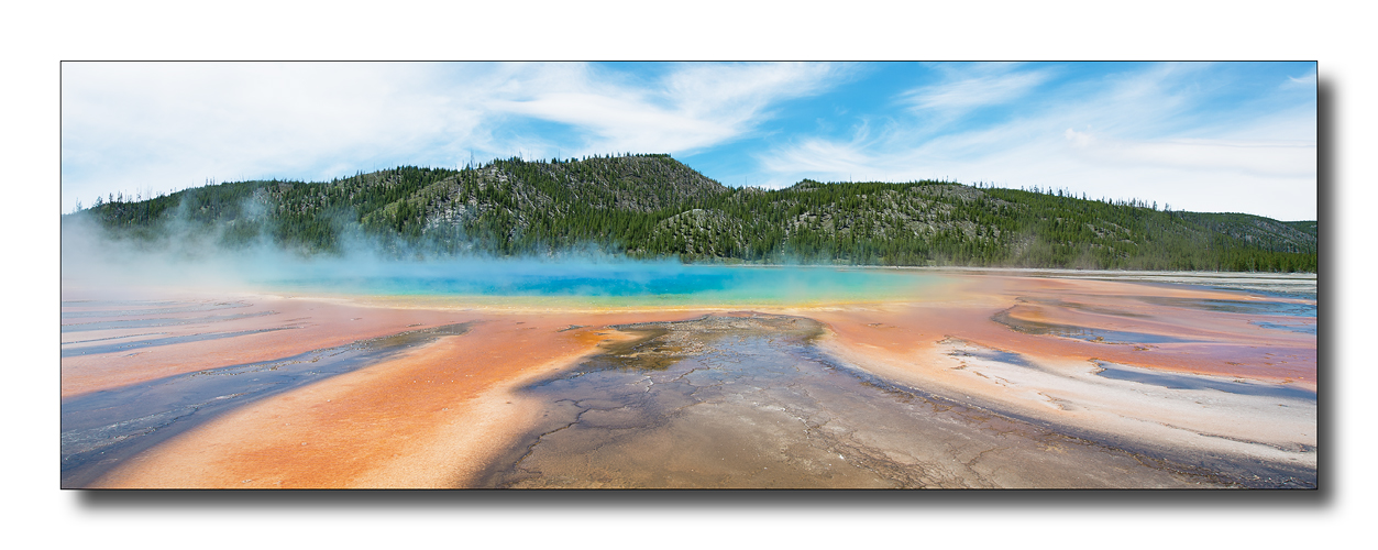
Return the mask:
<path id="1" fill-rule="evenodd" d="M 598 247 L 686 262 L 1315 272 L 1316 222 L 1159 210 L 951 182 L 726 187 L 667 154 L 401 167 L 251 181 L 63 216 L 158 247 L 189 234 L 306 255 L 550 255 Z"/>

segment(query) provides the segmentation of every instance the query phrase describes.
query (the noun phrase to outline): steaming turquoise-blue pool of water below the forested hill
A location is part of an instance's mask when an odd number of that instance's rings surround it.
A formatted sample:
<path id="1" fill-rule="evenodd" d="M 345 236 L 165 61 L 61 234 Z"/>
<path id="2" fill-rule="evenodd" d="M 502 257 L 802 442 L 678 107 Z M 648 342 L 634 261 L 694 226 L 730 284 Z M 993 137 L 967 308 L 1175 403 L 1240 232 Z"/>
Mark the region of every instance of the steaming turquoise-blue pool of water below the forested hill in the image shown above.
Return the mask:
<path id="1" fill-rule="evenodd" d="M 896 269 L 678 263 L 409 263 L 311 266 L 260 283 L 295 292 L 375 296 L 521 296 L 663 303 L 784 303 L 918 296 L 943 277 Z"/>

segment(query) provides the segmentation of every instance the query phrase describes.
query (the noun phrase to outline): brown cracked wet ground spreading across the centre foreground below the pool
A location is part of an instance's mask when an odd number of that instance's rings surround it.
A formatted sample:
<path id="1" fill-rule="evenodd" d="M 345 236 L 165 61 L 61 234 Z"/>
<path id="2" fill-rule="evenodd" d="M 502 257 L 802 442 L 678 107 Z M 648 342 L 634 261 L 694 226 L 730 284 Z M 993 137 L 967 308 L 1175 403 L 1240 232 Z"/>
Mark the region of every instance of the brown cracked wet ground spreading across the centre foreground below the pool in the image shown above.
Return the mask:
<path id="1" fill-rule="evenodd" d="M 842 368 L 817 321 L 710 316 L 522 391 L 543 418 L 480 487 L 1228 487 L 1232 480 Z"/>

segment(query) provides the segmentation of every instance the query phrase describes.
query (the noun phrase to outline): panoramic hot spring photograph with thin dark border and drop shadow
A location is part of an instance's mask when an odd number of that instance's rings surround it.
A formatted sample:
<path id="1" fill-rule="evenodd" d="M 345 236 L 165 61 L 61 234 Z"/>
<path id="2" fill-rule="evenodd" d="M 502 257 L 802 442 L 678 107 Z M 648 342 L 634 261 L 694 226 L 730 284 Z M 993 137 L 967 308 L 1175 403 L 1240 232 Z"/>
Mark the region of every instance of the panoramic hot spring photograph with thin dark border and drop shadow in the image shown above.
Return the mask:
<path id="1" fill-rule="evenodd" d="M 1319 487 L 1315 61 L 61 88 L 63 489 Z"/>

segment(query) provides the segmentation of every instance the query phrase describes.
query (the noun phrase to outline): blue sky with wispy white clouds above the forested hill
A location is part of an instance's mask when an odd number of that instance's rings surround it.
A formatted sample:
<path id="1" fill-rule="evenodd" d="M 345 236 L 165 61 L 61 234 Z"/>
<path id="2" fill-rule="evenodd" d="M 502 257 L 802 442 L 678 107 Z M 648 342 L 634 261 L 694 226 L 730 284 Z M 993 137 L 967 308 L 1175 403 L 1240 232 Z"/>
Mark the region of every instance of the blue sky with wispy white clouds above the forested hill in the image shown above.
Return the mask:
<path id="1" fill-rule="evenodd" d="M 63 62 L 62 211 L 395 165 L 670 153 L 1316 219 L 1315 62 Z"/>

